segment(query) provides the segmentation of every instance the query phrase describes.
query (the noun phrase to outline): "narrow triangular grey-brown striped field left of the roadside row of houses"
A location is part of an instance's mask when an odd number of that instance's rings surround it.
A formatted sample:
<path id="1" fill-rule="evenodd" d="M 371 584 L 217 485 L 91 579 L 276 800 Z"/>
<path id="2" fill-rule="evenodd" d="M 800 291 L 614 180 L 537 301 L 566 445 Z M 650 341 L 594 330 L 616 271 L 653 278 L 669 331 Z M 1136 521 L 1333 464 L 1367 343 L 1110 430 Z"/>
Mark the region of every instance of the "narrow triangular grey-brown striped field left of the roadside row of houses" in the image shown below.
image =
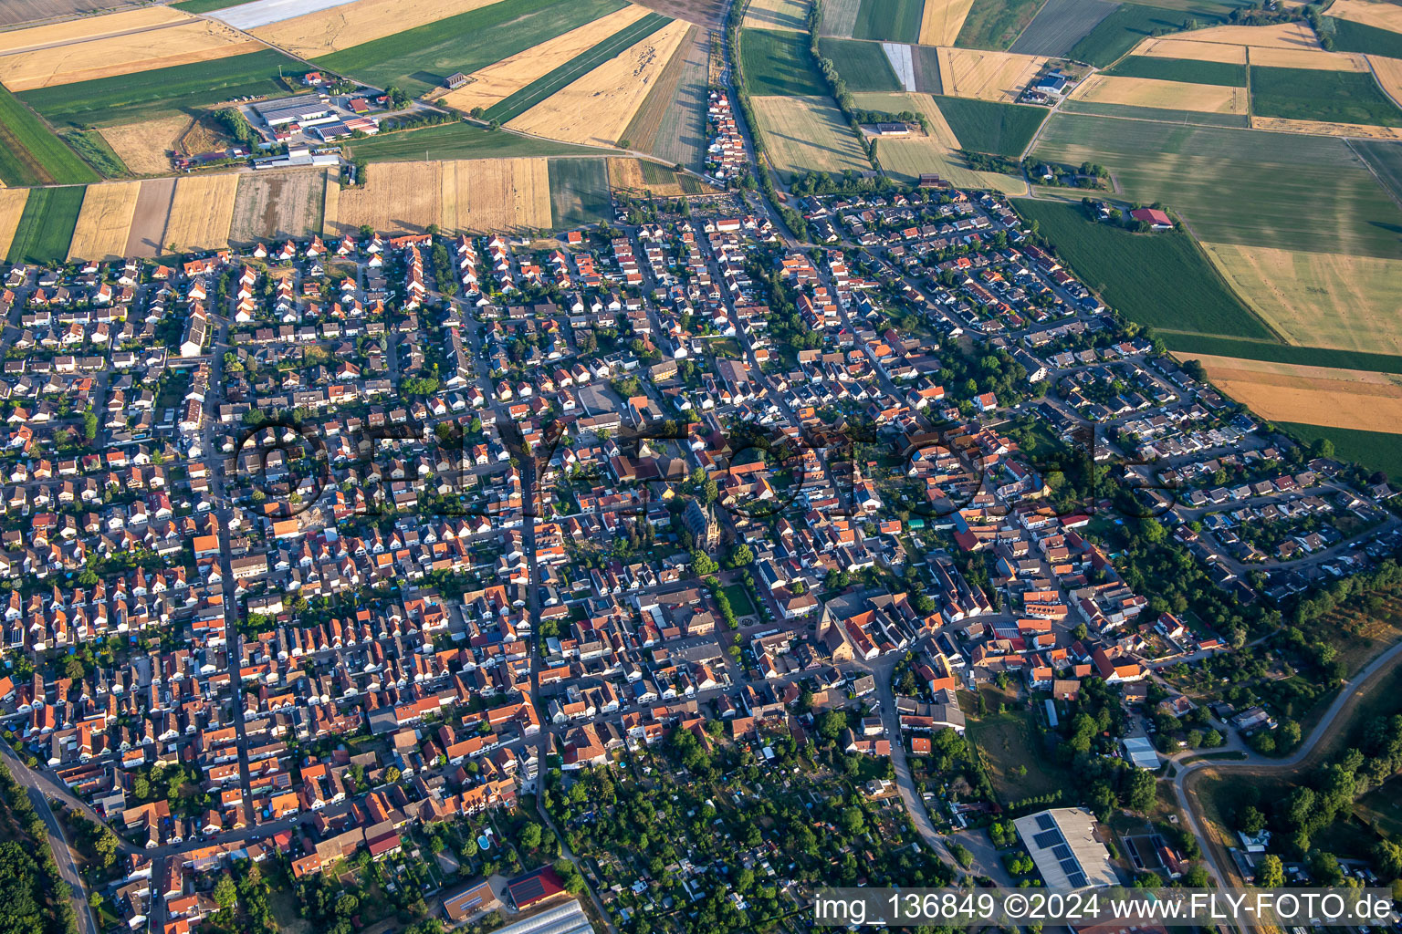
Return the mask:
<path id="1" fill-rule="evenodd" d="M 694 27 L 652 83 L 624 127 L 629 147 L 673 165 L 700 171 L 705 162 L 705 120 L 711 34 Z"/>

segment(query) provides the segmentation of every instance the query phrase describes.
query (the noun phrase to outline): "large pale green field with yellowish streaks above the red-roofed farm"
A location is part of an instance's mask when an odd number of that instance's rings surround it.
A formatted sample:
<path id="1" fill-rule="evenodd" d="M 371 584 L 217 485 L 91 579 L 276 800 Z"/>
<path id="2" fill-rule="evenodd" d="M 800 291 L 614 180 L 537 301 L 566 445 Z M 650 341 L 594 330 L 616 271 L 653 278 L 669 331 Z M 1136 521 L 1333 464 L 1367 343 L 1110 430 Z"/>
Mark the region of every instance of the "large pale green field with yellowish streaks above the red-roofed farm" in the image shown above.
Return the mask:
<path id="1" fill-rule="evenodd" d="M 1339 139 L 1056 113 L 1033 154 L 1105 165 L 1126 199 L 1164 202 L 1209 242 L 1402 255 L 1402 210 Z"/>

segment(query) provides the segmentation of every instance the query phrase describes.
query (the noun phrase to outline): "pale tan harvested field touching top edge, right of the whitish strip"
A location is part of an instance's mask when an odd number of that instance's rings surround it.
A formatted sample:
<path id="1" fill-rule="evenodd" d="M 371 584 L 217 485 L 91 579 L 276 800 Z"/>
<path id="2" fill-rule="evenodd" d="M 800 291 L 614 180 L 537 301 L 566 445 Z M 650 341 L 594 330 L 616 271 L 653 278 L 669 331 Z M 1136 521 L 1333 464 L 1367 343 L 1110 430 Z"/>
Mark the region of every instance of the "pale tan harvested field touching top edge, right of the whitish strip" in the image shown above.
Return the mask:
<path id="1" fill-rule="evenodd" d="M 317 10 L 251 32 L 303 59 L 349 49 L 383 39 L 460 13 L 470 13 L 499 0 L 358 0 L 329 10 Z"/>

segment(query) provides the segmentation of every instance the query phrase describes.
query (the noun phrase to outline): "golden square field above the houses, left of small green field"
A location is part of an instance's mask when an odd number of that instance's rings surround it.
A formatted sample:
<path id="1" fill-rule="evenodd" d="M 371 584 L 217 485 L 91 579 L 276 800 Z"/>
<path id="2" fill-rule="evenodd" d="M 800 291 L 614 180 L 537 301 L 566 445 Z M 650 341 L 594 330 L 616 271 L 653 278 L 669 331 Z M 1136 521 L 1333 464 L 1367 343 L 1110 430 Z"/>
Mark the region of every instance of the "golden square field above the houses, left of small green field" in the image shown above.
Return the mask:
<path id="1" fill-rule="evenodd" d="M 550 160 L 485 158 L 443 162 L 444 230 L 550 230 Z"/>

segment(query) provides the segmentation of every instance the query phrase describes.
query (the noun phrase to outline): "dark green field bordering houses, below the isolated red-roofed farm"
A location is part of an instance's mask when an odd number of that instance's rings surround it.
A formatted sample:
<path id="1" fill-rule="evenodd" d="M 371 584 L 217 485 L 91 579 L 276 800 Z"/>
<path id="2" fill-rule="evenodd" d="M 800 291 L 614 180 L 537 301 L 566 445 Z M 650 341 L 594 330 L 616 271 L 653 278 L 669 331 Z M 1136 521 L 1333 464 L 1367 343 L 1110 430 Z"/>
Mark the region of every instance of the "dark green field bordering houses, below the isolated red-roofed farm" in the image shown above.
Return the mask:
<path id="1" fill-rule="evenodd" d="M 1080 203 L 1016 199 L 1057 256 L 1110 308 L 1151 328 L 1270 339 L 1189 234 L 1131 234 L 1089 220 Z"/>

